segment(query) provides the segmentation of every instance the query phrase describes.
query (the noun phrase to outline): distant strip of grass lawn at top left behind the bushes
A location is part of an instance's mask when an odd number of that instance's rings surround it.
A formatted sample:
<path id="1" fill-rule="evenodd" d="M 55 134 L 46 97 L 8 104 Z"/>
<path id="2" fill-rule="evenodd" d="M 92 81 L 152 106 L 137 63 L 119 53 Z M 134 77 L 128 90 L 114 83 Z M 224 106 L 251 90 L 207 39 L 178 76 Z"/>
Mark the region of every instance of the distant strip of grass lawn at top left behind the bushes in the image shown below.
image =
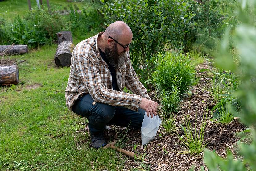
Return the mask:
<path id="1" fill-rule="evenodd" d="M 37 7 L 36 0 L 30 0 L 30 2 L 31 8 L 35 9 Z M 49 3 L 51 7 L 60 10 L 64 7 L 67 7 L 67 9 L 69 9 L 68 5 L 70 4 L 70 2 L 67 2 L 67 0 L 49 0 Z M 87 3 L 85 2 L 72 2 L 72 5 L 75 4 L 80 9 L 84 6 L 87 6 Z M 48 8 L 46 0 L 43 0 L 43 7 Z M 22 17 L 27 10 L 29 10 L 27 0 L 5 0 L 3 2 L 0 2 L 0 16 L 8 20 L 13 19 L 15 16 L 18 15 Z"/>

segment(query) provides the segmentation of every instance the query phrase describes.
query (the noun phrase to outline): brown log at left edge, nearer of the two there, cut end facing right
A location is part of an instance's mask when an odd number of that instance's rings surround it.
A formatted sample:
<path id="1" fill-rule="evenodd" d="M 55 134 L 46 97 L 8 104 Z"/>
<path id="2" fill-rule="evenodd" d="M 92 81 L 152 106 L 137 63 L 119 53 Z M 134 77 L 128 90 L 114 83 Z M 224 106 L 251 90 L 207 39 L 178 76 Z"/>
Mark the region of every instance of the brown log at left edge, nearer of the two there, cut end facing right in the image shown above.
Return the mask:
<path id="1" fill-rule="evenodd" d="M 18 84 L 19 69 L 17 65 L 0 65 L 0 86 Z"/>

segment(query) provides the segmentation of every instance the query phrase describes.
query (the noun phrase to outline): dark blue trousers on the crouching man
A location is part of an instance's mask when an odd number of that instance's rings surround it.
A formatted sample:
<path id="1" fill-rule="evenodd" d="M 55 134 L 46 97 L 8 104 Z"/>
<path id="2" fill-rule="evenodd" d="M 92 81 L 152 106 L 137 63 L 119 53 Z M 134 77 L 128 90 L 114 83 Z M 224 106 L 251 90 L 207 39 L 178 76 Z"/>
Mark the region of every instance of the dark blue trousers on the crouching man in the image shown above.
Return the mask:
<path id="1" fill-rule="evenodd" d="M 139 108 L 138 112 L 121 106 L 111 106 L 105 103 L 93 105 L 90 94 L 79 97 L 72 111 L 77 115 L 86 117 L 89 121 L 89 130 L 92 134 L 104 131 L 106 125 L 116 125 L 130 128 L 141 128 L 145 110 Z"/>

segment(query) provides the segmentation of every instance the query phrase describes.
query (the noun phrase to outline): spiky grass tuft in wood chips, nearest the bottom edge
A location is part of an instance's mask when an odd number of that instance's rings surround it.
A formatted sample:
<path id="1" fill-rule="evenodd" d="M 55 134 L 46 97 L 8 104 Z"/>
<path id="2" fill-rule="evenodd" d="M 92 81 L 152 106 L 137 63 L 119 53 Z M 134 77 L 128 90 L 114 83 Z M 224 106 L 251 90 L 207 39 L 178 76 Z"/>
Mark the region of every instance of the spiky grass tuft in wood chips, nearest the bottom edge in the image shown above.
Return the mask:
<path id="1" fill-rule="evenodd" d="M 181 125 L 184 131 L 184 136 L 179 135 L 179 138 L 188 148 L 189 152 L 195 156 L 199 155 L 206 146 L 206 143 L 204 142 L 204 131 L 206 127 L 207 115 L 204 117 L 205 118 L 203 118 L 201 121 L 199 131 L 197 130 L 197 114 L 194 127 L 192 127 L 188 116 L 185 116 L 185 121 L 183 125 Z"/>

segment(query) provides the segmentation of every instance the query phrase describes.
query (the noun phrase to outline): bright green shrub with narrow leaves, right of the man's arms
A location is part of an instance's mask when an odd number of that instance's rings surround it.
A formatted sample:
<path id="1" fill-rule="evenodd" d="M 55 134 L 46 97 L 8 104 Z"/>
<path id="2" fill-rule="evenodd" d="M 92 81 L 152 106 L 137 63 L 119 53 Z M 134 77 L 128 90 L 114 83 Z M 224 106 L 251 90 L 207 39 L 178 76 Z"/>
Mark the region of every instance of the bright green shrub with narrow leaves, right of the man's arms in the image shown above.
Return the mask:
<path id="1" fill-rule="evenodd" d="M 191 64 L 189 54 L 158 53 L 155 56 L 154 70 L 152 78 L 156 85 L 157 93 L 162 90 L 173 92 L 176 87 L 183 94 L 194 81 L 195 70 Z"/>

